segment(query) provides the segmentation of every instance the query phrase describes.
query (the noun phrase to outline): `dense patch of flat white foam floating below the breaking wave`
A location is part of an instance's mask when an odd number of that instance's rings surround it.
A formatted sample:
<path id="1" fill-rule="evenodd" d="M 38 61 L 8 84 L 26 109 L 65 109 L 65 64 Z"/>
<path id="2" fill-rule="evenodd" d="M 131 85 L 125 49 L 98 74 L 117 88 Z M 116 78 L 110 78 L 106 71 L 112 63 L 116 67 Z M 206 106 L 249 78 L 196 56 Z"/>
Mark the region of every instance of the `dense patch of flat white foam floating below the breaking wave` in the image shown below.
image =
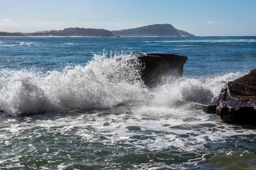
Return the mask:
<path id="1" fill-rule="evenodd" d="M 73 136 L 81 136 L 84 142 L 101 141 L 108 147 L 118 143 L 136 147 L 137 150 L 157 151 L 174 147 L 173 150 L 180 153 L 207 150 L 205 144 L 209 142 L 224 143 L 225 139 L 234 135 L 256 135 L 256 131 L 253 129 L 234 129 L 233 125 L 209 120 L 209 115 L 203 113 L 198 113 L 195 116 L 159 118 L 157 120 L 145 119 L 146 117 L 141 115 L 130 115 L 129 117 L 126 114 L 99 115 L 99 112 L 91 115 L 78 114 L 76 117 L 65 116 L 51 120 L 41 116 L 36 124 L 27 120 L 22 125 L 13 125 L 6 130 L 15 134 L 20 130 L 33 129 L 36 126 L 43 127 L 47 133 L 72 133 Z M 108 125 L 105 124 L 106 121 Z M 93 130 L 88 130 L 88 127 Z M 105 138 L 101 139 L 100 136 L 105 136 Z M 137 140 L 134 141 L 134 138 Z"/>

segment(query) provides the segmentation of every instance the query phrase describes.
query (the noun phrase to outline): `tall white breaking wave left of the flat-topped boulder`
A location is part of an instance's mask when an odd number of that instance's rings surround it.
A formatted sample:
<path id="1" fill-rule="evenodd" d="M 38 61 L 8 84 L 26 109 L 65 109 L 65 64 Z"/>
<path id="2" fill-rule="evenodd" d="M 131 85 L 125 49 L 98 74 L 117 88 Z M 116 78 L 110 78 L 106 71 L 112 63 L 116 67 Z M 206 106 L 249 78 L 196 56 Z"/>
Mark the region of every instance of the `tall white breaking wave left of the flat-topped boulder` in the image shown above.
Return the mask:
<path id="1" fill-rule="evenodd" d="M 144 100 L 147 89 L 140 79 L 140 63 L 131 56 L 107 59 L 95 55 L 86 66 L 67 66 L 47 74 L 2 70 L 0 108 L 5 113 L 41 113 L 70 109 L 111 108 Z M 134 61 L 134 60 L 133 60 Z"/>

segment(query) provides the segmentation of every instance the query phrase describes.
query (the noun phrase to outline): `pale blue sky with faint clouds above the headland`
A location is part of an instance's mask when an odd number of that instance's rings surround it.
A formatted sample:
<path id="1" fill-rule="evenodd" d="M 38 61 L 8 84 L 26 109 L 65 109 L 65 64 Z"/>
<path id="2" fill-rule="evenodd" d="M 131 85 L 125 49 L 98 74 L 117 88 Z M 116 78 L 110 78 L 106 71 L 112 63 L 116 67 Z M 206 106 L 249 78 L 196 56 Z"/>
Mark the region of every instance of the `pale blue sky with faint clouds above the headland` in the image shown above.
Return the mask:
<path id="1" fill-rule="evenodd" d="M 169 23 L 196 36 L 256 36 L 256 0 L 0 0 L 0 31 L 121 30 Z"/>

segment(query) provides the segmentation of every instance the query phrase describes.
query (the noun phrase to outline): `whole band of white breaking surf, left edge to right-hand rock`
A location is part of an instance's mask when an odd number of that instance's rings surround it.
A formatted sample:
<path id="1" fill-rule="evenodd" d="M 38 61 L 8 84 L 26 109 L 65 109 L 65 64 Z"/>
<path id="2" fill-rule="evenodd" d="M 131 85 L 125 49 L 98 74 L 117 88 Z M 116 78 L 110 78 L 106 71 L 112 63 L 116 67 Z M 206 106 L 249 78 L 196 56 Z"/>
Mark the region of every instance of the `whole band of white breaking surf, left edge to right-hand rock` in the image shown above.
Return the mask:
<path id="1" fill-rule="evenodd" d="M 86 66 L 67 66 L 63 71 L 0 71 L 0 109 L 11 115 L 70 109 L 113 108 L 132 105 L 138 114 L 180 116 L 177 100 L 212 104 L 221 88 L 242 73 L 206 79 L 183 77 L 156 88 L 145 88 L 139 63 L 129 65 L 129 55 L 111 59 L 95 55 Z"/>

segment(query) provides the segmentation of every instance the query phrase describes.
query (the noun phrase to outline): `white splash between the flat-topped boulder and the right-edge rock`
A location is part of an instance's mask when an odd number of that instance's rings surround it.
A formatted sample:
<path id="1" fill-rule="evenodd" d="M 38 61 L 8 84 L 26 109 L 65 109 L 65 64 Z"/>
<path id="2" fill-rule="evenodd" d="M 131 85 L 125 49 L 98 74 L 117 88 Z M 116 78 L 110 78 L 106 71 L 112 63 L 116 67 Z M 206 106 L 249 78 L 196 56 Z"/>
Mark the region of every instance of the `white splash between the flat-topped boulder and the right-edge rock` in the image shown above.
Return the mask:
<path id="1" fill-rule="evenodd" d="M 243 75 L 244 73 L 238 72 L 201 79 L 188 77 L 169 79 L 166 84 L 150 89 L 146 102 L 136 105 L 132 108 L 132 112 L 165 118 L 196 116 L 198 111 L 191 109 L 189 102 L 218 105 L 217 99 L 221 88 L 227 82 Z M 180 106 L 179 100 L 187 101 L 187 104 Z"/>

